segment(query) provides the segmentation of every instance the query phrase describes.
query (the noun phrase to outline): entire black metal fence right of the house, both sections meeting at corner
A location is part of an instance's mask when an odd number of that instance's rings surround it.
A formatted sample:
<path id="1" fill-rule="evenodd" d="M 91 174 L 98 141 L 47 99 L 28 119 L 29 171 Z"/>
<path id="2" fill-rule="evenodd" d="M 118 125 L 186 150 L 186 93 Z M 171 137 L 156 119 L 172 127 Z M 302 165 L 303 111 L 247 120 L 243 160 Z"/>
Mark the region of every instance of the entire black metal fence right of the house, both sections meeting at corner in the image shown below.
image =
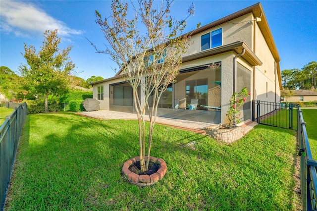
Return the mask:
<path id="1" fill-rule="evenodd" d="M 301 156 L 302 210 L 317 211 L 317 161 L 312 156 L 301 107 L 297 104 L 253 101 L 252 121 L 297 130 L 298 155 Z"/>

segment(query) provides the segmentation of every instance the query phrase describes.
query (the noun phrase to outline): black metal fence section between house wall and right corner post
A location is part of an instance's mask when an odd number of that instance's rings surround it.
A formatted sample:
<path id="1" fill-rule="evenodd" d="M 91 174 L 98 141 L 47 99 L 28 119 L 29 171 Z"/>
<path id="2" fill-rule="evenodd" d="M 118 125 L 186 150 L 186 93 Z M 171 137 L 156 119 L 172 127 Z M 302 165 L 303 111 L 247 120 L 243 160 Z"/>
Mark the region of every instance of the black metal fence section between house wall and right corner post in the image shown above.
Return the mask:
<path id="1" fill-rule="evenodd" d="M 252 121 L 297 130 L 298 107 L 297 104 L 252 101 Z"/>

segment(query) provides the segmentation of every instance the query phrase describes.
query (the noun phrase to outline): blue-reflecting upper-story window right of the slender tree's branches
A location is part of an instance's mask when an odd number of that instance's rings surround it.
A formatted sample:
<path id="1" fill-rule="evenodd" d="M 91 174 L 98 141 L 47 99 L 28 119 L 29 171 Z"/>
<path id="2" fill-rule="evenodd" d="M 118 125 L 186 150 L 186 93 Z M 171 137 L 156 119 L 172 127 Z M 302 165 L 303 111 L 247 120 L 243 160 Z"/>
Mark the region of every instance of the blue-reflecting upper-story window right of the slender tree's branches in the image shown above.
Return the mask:
<path id="1" fill-rule="evenodd" d="M 202 35 L 202 51 L 222 45 L 222 28 Z"/>

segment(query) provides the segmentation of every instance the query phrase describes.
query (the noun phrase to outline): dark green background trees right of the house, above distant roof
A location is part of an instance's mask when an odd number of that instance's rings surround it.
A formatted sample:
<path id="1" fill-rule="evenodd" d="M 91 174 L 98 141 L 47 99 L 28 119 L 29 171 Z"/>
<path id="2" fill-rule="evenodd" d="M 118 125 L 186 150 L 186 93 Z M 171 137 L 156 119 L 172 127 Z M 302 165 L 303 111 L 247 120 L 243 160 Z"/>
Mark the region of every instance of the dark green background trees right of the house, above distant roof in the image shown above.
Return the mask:
<path id="1" fill-rule="evenodd" d="M 284 89 L 304 89 L 317 91 L 316 89 L 317 62 L 312 61 L 302 69 L 282 70 L 282 86 Z"/>

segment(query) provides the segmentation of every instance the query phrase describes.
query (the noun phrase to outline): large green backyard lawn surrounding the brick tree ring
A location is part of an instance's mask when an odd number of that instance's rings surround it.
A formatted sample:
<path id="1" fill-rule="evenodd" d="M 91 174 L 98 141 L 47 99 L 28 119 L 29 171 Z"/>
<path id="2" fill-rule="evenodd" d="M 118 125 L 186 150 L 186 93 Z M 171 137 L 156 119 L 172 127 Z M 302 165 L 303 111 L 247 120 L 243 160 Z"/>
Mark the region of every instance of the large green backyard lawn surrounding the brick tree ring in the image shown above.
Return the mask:
<path id="1" fill-rule="evenodd" d="M 5 210 L 300 209 L 294 131 L 258 125 L 229 145 L 157 124 L 153 139 L 167 172 L 138 188 L 121 175 L 139 152 L 135 120 L 30 114 Z"/>

